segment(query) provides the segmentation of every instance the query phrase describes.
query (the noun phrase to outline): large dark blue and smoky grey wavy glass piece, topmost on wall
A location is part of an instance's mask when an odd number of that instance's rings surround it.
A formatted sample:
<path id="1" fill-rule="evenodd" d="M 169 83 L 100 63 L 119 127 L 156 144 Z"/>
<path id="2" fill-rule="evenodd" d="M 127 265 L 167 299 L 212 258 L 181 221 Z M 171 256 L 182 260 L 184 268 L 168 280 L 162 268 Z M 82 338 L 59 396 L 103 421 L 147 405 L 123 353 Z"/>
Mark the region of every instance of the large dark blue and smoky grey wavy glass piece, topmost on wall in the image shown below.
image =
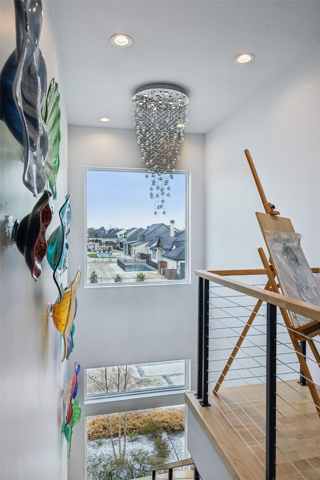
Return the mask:
<path id="1" fill-rule="evenodd" d="M 0 118 L 23 146 L 23 183 L 37 196 L 45 187 L 48 136 L 41 111 L 46 66 L 39 49 L 41 0 L 15 0 L 16 48 L 1 70 Z"/>

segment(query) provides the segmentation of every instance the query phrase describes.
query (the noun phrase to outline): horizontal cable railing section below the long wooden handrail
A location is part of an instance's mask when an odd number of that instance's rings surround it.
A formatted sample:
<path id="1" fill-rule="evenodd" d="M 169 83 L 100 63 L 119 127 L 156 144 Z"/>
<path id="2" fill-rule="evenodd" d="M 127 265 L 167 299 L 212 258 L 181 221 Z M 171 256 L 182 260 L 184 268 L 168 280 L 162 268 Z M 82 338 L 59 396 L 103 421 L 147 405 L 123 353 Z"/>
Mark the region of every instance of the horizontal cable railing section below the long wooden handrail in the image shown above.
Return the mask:
<path id="1" fill-rule="evenodd" d="M 199 277 L 199 280 L 200 279 L 201 277 Z M 205 281 L 207 281 L 207 284 L 210 284 L 208 280 L 204 280 L 204 282 Z M 261 284 L 254 286 L 260 287 Z M 264 288 L 264 285 L 262 288 Z M 220 289 L 220 294 L 216 294 L 216 291 L 213 292 L 213 290 L 217 289 Z M 248 318 L 252 314 L 252 308 L 256 305 L 256 298 L 249 297 L 242 293 L 239 294 L 238 292 L 230 294 L 228 290 L 230 289 L 224 285 L 217 285 L 214 287 L 210 285 L 208 288 L 208 297 L 206 300 L 207 305 L 205 306 L 208 321 L 208 334 L 204 335 L 204 342 L 207 344 L 207 354 L 205 355 L 205 358 L 208 362 L 208 367 L 206 369 L 206 388 L 208 391 L 219 381 L 217 394 L 213 395 L 213 397 L 210 396 L 210 399 L 214 400 L 214 397 L 218 398 L 218 404 L 215 403 L 215 407 L 219 408 L 225 421 L 234 428 L 236 434 L 240 436 L 256 459 L 260 463 L 266 465 L 266 457 L 268 454 L 265 455 L 265 461 L 263 461 L 258 450 L 256 450 L 256 448 L 261 448 L 263 452 L 267 451 L 266 447 L 263 446 L 264 440 L 262 441 L 259 437 L 260 434 L 263 434 L 263 438 L 268 435 L 268 433 L 265 432 L 265 426 L 263 426 L 265 425 L 265 412 L 262 412 L 260 407 L 260 404 L 265 402 L 265 391 L 258 388 L 259 386 L 263 388 L 263 383 L 266 381 L 266 363 L 264 359 L 267 344 L 265 341 L 263 343 L 263 338 L 265 338 L 266 335 L 266 303 L 263 302 L 261 304 L 259 311 L 256 312 L 253 317 L 249 330 L 247 330 L 245 334 L 242 334 L 243 327 L 247 324 Z M 277 473 L 280 474 L 279 478 L 281 478 L 281 480 L 284 478 L 292 480 L 290 475 L 295 475 L 295 473 L 300 476 L 294 476 L 294 479 L 303 478 L 305 480 L 310 480 L 308 476 L 312 475 L 312 472 L 318 473 L 320 478 L 320 469 L 312 464 L 312 458 L 309 459 L 305 456 L 305 450 L 303 448 L 299 450 L 294 439 L 292 440 L 288 437 L 288 434 L 286 434 L 286 428 L 291 428 L 292 431 L 295 432 L 292 433 L 293 436 L 294 434 L 300 436 L 303 438 L 304 442 L 307 442 L 307 444 L 310 445 L 310 448 L 319 449 L 317 439 L 310 439 L 307 436 L 307 433 L 303 433 L 303 426 L 306 428 L 305 425 L 308 424 L 309 428 L 314 428 L 319 432 L 318 438 L 320 438 L 320 429 L 319 424 L 317 423 L 319 417 L 315 409 L 316 405 L 311 399 L 308 389 L 299 390 L 299 388 L 307 387 L 298 387 L 297 383 L 299 382 L 297 379 L 300 376 L 300 379 L 302 377 L 305 378 L 307 382 L 313 383 L 315 386 L 319 385 L 317 385 L 313 379 L 307 378 L 301 372 L 300 362 L 298 361 L 298 355 L 301 353 L 294 348 L 289 335 L 290 328 L 287 327 L 281 319 L 281 314 L 277 312 L 272 320 L 277 330 L 277 350 L 276 354 L 273 355 L 273 359 L 276 362 L 276 371 L 272 375 L 274 375 L 274 381 L 281 382 L 283 385 L 283 387 L 279 387 L 279 390 L 278 387 L 276 387 L 278 390 L 276 393 L 275 391 L 273 392 L 277 399 L 276 405 L 274 405 L 274 411 L 276 412 L 280 424 L 279 426 L 276 425 L 274 427 L 277 439 L 273 445 L 274 459 L 271 460 L 271 463 L 273 462 L 274 465 L 272 468 L 276 468 Z M 295 332 L 293 328 L 292 332 Z M 243 343 L 240 344 L 239 349 L 233 355 L 231 353 L 235 346 L 235 342 L 239 338 Z M 301 334 L 301 338 L 303 341 L 304 339 L 308 340 L 308 337 L 305 334 Z M 320 344 L 318 340 L 315 340 L 314 338 L 312 338 L 312 340 L 315 345 Z M 252 359 L 251 355 L 253 352 L 256 354 L 254 354 L 254 358 Z M 304 357 L 310 365 L 318 365 L 317 361 L 308 353 L 306 353 Z M 230 359 L 231 364 L 220 380 L 220 375 L 225 362 Z M 252 360 L 252 362 L 250 360 Z M 294 395 L 296 395 L 297 398 L 301 398 L 301 401 L 296 400 L 298 403 L 297 405 L 291 400 L 291 395 L 288 393 L 289 391 L 294 392 Z M 312 409 L 311 413 L 309 413 L 309 410 L 306 412 L 304 412 L 304 410 L 301 411 L 301 409 L 299 409 L 301 402 L 304 405 L 310 405 L 314 410 Z M 291 412 L 293 415 L 292 418 L 288 416 Z M 295 424 L 295 417 L 297 416 L 301 418 L 301 421 L 305 422 L 302 427 Z M 241 432 L 238 431 L 239 426 L 241 426 L 240 429 L 242 430 L 242 436 Z M 281 460 L 279 459 L 280 463 L 276 461 L 275 448 L 277 454 L 281 456 Z M 296 461 L 302 461 L 305 468 L 309 468 L 311 473 L 300 471 L 299 466 L 294 464 Z M 274 476 L 274 478 L 277 477 Z"/>

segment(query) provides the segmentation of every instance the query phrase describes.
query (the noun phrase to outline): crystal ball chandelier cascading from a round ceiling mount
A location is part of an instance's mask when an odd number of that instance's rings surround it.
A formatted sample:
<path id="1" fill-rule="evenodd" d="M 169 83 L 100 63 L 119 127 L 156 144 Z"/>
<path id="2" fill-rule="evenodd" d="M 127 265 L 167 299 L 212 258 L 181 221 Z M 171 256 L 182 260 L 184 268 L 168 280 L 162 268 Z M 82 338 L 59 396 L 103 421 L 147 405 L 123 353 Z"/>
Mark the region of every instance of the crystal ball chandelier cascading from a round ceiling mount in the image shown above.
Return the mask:
<path id="1" fill-rule="evenodd" d="M 182 88 L 152 84 L 138 88 L 133 97 L 132 119 L 136 127 L 141 160 L 151 177 L 150 198 L 154 214 L 165 215 L 165 199 L 170 196 L 169 179 L 179 158 L 183 130 L 188 121 L 189 99 Z"/>

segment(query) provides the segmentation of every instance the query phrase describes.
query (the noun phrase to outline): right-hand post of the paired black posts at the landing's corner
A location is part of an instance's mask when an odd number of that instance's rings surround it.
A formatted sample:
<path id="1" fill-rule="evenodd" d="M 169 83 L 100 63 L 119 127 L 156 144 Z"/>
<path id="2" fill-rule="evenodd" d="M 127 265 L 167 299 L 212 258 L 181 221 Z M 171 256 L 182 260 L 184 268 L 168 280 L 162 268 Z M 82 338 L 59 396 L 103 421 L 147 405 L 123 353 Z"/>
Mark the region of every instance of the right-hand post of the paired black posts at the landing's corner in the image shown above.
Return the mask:
<path id="1" fill-rule="evenodd" d="M 209 369 L 209 280 L 204 280 L 202 315 L 202 394 L 201 406 L 210 406 L 208 402 Z"/>

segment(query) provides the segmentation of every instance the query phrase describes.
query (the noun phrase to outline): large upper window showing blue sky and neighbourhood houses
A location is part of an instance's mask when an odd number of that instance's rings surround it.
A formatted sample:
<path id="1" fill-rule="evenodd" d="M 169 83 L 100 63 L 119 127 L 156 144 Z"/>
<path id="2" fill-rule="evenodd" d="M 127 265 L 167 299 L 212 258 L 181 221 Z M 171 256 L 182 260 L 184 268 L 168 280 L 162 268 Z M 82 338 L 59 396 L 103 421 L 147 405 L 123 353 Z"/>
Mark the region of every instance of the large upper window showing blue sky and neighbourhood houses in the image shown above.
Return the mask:
<path id="1" fill-rule="evenodd" d="M 86 284 L 188 281 L 189 172 L 87 168 Z"/>

